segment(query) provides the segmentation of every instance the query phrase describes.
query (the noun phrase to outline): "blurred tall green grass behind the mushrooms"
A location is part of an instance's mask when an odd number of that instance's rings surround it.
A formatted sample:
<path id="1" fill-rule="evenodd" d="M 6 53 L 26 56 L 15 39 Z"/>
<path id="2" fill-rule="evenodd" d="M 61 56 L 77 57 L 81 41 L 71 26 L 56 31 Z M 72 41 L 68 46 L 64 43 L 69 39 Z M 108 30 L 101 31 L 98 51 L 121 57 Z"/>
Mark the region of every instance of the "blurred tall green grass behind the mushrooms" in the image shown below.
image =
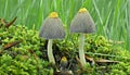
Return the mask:
<path id="1" fill-rule="evenodd" d="M 0 17 L 11 21 L 17 16 L 16 25 L 39 29 L 43 20 L 56 11 L 68 28 L 80 8 L 90 12 L 98 35 L 125 41 L 121 46 L 130 50 L 130 0 L 0 0 Z"/>

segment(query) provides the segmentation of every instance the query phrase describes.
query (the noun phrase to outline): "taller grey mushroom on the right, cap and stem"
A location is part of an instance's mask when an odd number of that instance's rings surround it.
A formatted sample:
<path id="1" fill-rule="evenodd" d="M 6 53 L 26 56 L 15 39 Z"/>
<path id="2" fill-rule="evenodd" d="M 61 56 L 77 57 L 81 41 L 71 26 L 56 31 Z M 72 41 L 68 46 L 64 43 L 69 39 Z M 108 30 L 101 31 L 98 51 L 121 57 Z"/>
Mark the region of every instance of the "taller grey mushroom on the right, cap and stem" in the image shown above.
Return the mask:
<path id="1" fill-rule="evenodd" d="M 86 64 L 84 59 L 84 34 L 90 34 L 95 32 L 94 22 L 87 11 L 86 8 L 82 8 L 78 11 L 70 23 L 70 33 L 79 33 L 79 59 L 82 65 Z"/>

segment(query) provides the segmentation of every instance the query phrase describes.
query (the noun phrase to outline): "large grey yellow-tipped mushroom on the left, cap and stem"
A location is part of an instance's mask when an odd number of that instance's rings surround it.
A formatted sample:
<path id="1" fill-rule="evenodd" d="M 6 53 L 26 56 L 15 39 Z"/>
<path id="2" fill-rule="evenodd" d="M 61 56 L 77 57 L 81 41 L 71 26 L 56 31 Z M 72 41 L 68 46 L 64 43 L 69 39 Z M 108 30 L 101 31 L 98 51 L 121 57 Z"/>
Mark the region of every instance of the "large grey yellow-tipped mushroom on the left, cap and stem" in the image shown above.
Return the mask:
<path id="1" fill-rule="evenodd" d="M 49 17 L 44 20 L 44 23 L 40 28 L 39 37 L 49 39 L 48 58 L 50 63 L 55 64 L 52 51 L 52 39 L 63 39 L 65 37 L 62 21 L 56 12 L 50 13 Z"/>

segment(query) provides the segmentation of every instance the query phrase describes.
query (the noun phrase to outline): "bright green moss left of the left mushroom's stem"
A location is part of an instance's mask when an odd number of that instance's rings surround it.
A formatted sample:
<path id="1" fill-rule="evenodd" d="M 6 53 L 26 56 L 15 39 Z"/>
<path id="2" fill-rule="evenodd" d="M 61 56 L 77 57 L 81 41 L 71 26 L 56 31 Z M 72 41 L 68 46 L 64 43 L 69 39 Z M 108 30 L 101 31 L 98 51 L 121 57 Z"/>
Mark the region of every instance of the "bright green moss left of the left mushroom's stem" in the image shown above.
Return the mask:
<path id="1" fill-rule="evenodd" d="M 22 42 L 9 49 L 3 49 L 6 43 L 17 40 L 22 40 Z M 44 40 L 39 39 L 37 30 L 28 29 L 25 26 L 0 28 L 0 74 L 48 75 L 50 73 L 49 63 L 40 59 L 42 52 L 39 49 L 44 46 L 43 42 Z M 36 55 L 29 50 L 34 51 Z"/>

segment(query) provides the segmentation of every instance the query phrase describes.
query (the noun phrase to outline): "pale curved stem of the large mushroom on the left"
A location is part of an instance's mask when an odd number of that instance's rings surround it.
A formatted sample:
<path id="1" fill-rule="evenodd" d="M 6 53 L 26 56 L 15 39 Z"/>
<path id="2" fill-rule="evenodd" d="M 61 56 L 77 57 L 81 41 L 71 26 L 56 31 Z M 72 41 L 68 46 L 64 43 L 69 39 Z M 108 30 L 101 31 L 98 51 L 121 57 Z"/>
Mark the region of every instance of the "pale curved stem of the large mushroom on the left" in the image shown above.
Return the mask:
<path id="1" fill-rule="evenodd" d="M 49 39 L 48 41 L 48 58 L 49 58 L 49 62 L 51 62 L 52 64 L 55 64 L 55 60 L 52 51 L 52 39 Z"/>

